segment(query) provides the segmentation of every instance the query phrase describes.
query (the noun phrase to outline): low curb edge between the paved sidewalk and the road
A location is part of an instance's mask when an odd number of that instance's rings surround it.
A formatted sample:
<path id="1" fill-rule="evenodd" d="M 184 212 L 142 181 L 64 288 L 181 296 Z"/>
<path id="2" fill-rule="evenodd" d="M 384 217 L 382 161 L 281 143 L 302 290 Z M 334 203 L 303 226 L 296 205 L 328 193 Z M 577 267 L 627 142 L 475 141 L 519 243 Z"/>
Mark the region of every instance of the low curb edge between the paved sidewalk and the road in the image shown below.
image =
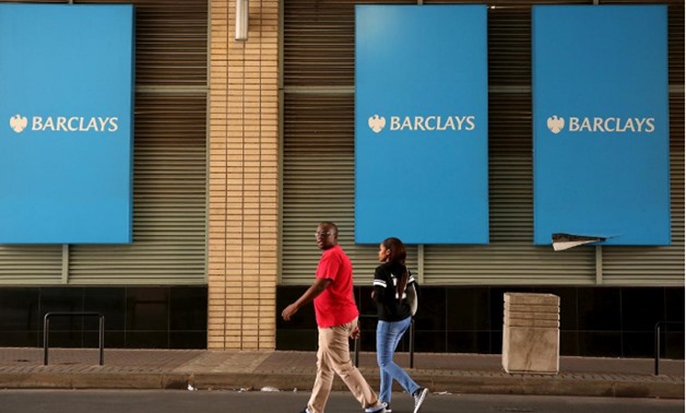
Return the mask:
<path id="1" fill-rule="evenodd" d="M 365 375 L 372 388 L 378 378 Z M 658 377 L 570 377 L 525 375 L 427 375 L 413 378 L 433 392 L 473 394 L 571 396 L 684 399 L 683 379 Z M 259 390 L 272 387 L 282 391 L 309 391 L 315 380 L 310 373 L 232 373 L 232 374 L 159 374 L 159 373 L 15 373 L 0 374 L 3 389 L 120 389 L 120 390 Z M 347 391 L 336 376 L 332 390 Z M 400 388 L 394 389 L 401 391 Z"/>

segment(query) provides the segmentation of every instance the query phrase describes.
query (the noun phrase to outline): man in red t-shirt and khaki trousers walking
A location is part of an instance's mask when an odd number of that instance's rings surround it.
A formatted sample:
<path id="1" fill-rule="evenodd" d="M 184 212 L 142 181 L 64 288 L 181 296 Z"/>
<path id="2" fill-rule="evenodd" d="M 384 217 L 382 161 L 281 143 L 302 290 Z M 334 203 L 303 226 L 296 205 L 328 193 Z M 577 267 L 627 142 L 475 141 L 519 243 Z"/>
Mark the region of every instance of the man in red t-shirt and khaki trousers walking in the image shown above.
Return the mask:
<path id="1" fill-rule="evenodd" d="M 322 250 L 315 282 L 281 312 L 283 319 L 288 321 L 304 305 L 315 300 L 319 331 L 317 378 L 312 394 L 301 413 L 324 412 L 334 373 L 345 382 L 366 413 L 381 413 L 385 404 L 379 402 L 377 394 L 351 361 L 348 338 L 359 337 L 359 311 L 353 297 L 353 266 L 338 245 L 339 228 L 334 223 L 322 222 L 315 235 L 317 246 Z"/>

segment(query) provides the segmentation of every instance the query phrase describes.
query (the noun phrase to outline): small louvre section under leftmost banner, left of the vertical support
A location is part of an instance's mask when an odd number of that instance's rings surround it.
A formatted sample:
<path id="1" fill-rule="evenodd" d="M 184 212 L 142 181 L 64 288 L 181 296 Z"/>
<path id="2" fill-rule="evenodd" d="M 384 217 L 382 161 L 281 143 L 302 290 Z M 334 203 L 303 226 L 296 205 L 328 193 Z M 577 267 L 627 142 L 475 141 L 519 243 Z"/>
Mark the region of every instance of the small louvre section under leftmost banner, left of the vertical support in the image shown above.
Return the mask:
<path id="1" fill-rule="evenodd" d="M 58 284 L 61 245 L 0 245 L 0 285 Z"/>

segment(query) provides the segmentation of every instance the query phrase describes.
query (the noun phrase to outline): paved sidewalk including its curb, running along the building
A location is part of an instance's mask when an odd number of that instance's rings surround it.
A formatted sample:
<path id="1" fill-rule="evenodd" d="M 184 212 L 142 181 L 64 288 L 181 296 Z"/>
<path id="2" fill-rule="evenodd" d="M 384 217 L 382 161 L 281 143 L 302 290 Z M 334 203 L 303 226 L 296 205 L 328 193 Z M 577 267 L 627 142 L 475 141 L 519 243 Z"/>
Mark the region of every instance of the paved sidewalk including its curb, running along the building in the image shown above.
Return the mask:
<path id="1" fill-rule="evenodd" d="M 314 352 L 0 347 L 0 389 L 198 389 L 307 391 Z M 409 366 L 407 353 L 397 362 Z M 416 353 L 410 375 L 433 392 L 684 399 L 684 361 L 560 357 L 559 374 L 508 374 L 500 355 Z M 359 369 L 377 388 L 372 353 Z M 346 390 L 336 377 L 335 390 Z M 400 390 L 400 389 L 399 389 Z"/>

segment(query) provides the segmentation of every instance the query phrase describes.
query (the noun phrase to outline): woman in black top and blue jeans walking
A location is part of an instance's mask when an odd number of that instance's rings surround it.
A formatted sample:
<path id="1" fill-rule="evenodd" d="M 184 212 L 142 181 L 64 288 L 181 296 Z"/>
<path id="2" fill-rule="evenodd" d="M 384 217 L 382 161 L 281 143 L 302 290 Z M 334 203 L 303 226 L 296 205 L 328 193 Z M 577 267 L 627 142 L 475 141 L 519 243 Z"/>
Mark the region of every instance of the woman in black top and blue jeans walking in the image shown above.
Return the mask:
<path id="1" fill-rule="evenodd" d="M 379 245 L 379 261 L 374 274 L 372 297 L 377 304 L 379 322 L 377 324 L 377 363 L 381 373 L 379 398 L 388 403 L 390 412 L 391 388 L 393 380 L 414 398 L 414 413 L 419 412 L 428 389 L 417 385 L 393 362 L 393 354 L 410 323 L 412 311 L 407 303 L 406 288 L 414 287 L 415 280 L 405 267 L 407 252 L 398 238 L 387 238 Z"/>

